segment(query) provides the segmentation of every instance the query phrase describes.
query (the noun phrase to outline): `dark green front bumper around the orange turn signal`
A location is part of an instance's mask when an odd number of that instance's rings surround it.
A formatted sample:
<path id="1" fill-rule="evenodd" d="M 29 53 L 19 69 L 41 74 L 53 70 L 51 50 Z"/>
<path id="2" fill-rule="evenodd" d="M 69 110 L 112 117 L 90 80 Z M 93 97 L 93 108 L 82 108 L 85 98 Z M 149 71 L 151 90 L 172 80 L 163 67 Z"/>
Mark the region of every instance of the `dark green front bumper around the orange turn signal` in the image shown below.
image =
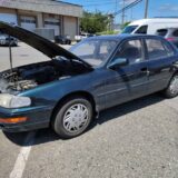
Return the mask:
<path id="1" fill-rule="evenodd" d="M 28 118 L 27 121 L 17 123 L 0 122 L 0 129 L 8 132 L 18 132 L 47 128 L 50 126 L 51 113 L 52 108 L 47 106 L 21 109 L 6 109 L 0 107 L 0 118 L 3 118 L 4 120 L 16 117 Z"/>

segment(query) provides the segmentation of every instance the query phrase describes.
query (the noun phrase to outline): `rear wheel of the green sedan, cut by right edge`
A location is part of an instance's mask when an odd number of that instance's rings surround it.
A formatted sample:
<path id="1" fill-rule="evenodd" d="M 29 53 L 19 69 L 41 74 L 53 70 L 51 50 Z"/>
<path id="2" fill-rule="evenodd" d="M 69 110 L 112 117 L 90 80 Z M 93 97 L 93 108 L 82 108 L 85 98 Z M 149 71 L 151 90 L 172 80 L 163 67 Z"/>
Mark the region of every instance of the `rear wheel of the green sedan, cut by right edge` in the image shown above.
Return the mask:
<path id="1" fill-rule="evenodd" d="M 164 91 L 167 98 L 175 98 L 178 96 L 178 73 L 174 75 L 167 89 Z"/>

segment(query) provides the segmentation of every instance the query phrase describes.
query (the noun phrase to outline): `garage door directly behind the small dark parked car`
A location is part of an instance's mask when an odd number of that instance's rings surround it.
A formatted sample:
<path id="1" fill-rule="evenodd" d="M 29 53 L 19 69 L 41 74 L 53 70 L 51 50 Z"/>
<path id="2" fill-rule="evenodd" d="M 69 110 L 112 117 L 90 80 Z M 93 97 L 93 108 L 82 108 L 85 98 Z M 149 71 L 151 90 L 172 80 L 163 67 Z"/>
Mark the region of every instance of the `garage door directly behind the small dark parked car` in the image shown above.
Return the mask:
<path id="1" fill-rule="evenodd" d="M 55 36 L 59 36 L 60 34 L 60 20 L 53 19 L 53 18 L 46 18 L 44 28 L 53 29 Z"/>

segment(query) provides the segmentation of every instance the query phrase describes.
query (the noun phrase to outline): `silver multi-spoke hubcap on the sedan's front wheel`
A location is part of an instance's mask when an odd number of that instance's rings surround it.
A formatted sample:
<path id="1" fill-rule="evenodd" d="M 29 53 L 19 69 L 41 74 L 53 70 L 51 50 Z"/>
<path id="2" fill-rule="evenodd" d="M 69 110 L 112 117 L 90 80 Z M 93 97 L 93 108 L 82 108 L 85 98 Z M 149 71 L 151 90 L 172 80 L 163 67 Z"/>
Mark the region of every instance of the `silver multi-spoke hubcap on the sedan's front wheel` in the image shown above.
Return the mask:
<path id="1" fill-rule="evenodd" d="M 88 119 L 88 108 L 82 103 L 77 103 L 66 111 L 63 127 L 69 132 L 78 132 L 86 126 Z"/>

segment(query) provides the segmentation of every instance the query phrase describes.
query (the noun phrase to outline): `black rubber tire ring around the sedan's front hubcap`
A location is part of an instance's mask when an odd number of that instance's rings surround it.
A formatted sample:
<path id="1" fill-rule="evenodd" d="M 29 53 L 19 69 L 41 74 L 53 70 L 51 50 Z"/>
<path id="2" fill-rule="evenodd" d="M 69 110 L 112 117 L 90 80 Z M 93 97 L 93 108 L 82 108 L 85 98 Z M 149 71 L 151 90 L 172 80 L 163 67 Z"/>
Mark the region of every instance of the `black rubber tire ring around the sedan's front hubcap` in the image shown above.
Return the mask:
<path id="1" fill-rule="evenodd" d="M 72 134 L 72 132 L 69 132 L 65 129 L 65 127 L 63 127 L 63 116 L 65 116 L 66 111 L 72 105 L 76 105 L 76 103 L 82 103 L 88 108 L 89 119 L 88 119 L 87 125 L 81 130 Z M 63 102 L 63 105 L 60 107 L 60 109 L 56 112 L 55 120 L 53 120 L 53 129 L 62 138 L 77 137 L 77 136 L 81 135 L 88 128 L 88 126 L 91 122 L 91 119 L 92 119 L 92 106 L 91 106 L 91 103 L 85 98 L 71 98 L 71 99 L 68 99 L 66 102 Z"/>

